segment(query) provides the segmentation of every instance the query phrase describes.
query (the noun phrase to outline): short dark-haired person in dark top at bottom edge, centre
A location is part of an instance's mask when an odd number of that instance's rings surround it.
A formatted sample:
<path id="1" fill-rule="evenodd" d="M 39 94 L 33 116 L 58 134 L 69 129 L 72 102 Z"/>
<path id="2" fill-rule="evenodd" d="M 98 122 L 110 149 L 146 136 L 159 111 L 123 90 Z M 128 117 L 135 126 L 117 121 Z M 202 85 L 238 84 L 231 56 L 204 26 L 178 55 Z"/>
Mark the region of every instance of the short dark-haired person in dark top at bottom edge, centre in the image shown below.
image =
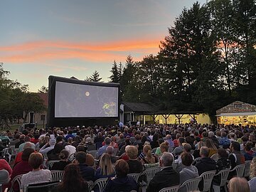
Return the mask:
<path id="1" fill-rule="evenodd" d="M 119 159 L 115 165 L 115 171 L 116 177 L 107 182 L 104 192 L 138 191 L 137 182 L 132 176 L 127 176 L 129 173 L 127 161 Z"/>

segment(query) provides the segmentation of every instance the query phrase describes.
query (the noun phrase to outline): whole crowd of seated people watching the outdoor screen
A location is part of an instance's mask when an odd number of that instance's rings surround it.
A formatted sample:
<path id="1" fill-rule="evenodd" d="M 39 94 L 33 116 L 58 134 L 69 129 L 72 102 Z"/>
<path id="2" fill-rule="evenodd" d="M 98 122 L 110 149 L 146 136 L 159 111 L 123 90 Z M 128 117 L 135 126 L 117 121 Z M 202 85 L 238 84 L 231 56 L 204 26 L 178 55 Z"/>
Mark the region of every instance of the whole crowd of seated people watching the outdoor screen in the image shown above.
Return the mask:
<path id="1" fill-rule="evenodd" d="M 105 191 L 111 191 L 114 186 L 119 187 L 120 183 L 126 182 L 131 182 L 128 189 L 137 190 L 138 186 L 134 185 L 133 178 L 127 174 L 142 173 L 148 167 L 161 166 L 161 171 L 150 183 L 146 183 L 146 191 L 159 191 L 167 186 L 182 184 L 206 171 L 215 170 L 218 174 L 223 169 L 233 169 L 248 160 L 252 160 L 253 172 L 255 135 L 255 127 L 220 124 L 26 129 L 14 132 L 11 139 L 18 152 L 13 168 L 1 159 L 3 163 L 1 162 L 0 169 L 9 171 L 11 181 L 18 174 L 23 174 L 21 188 L 24 188 L 28 183 L 50 181 L 50 171 L 46 170 L 43 161 L 58 160 L 50 170 L 66 171 L 70 164 L 75 165 L 82 181 L 111 178 L 105 186 Z M 92 153 L 95 150 L 97 153 Z M 217 159 L 212 159 L 213 155 Z M 70 156 L 73 158 L 70 159 Z M 173 167 L 173 163 L 178 165 Z M 118 172 L 117 169 L 121 171 Z M 70 167 L 68 171 L 75 172 L 76 169 Z M 42 175 L 42 178 L 34 176 L 35 173 Z M 170 174 L 172 181 L 160 179 L 164 174 Z M 113 178 L 114 176 L 116 177 Z M 229 179 L 233 176 L 235 172 L 230 172 Z M 33 179 L 29 180 L 28 177 Z M 80 178 L 77 179 L 80 182 Z M 11 181 L 6 187 L 11 187 Z M 143 183 L 142 181 L 145 181 L 143 177 L 139 179 L 139 183 Z M 215 176 L 213 183 L 218 185 L 220 176 Z M 254 173 L 251 174 L 249 186 L 255 186 L 255 183 Z M 60 183 L 58 190 L 63 186 L 64 183 Z M 80 186 L 86 186 L 86 183 L 80 182 Z M 17 183 L 14 183 L 13 188 L 18 191 Z M 202 188 L 203 181 L 199 183 L 199 189 Z"/>

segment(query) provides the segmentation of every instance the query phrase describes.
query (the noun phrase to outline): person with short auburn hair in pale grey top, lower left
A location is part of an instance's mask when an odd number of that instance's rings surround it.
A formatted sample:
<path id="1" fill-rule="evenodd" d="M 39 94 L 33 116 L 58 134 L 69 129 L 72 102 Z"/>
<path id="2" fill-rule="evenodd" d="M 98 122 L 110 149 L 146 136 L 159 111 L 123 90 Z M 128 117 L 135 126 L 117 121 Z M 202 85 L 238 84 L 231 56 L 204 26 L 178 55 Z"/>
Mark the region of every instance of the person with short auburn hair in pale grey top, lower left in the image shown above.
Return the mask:
<path id="1" fill-rule="evenodd" d="M 40 168 L 41 164 L 43 164 L 43 155 L 41 153 L 32 153 L 29 156 L 28 164 L 32 167 L 32 171 L 28 172 L 28 174 L 23 174 L 21 177 L 23 191 L 28 184 L 50 182 L 50 170 Z"/>

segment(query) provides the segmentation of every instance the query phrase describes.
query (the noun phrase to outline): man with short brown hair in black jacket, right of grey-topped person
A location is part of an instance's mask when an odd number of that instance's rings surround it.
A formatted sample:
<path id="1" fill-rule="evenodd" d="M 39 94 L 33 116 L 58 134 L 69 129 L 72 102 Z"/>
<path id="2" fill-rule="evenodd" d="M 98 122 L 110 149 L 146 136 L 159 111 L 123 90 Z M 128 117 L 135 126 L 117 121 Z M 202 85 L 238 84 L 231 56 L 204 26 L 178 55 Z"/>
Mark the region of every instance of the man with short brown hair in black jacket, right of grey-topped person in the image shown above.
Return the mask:
<path id="1" fill-rule="evenodd" d="M 196 163 L 199 176 L 201 176 L 201 174 L 205 173 L 206 171 L 216 170 L 216 162 L 208 157 L 209 152 L 210 149 L 207 146 L 202 146 L 200 149 L 201 161 Z M 203 191 L 203 180 L 200 181 L 198 187 L 200 191 Z"/>

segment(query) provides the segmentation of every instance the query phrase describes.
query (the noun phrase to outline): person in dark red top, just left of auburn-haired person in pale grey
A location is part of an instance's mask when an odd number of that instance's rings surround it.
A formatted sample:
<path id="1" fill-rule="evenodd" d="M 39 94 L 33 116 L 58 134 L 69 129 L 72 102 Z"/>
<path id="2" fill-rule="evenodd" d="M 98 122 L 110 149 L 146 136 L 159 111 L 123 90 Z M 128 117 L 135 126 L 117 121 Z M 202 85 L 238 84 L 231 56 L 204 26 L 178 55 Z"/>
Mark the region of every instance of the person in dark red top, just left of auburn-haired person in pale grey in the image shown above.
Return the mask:
<path id="1" fill-rule="evenodd" d="M 32 171 L 32 167 L 28 164 L 28 158 L 33 152 L 34 149 L 32 148 L 24 149 L 23 153 L 21 154 L 21 162 L 14 166 L 8 188 L 11 188 L 11 181 L 13 181 L 16 176 L 27 174 L 29 171 Z M 18 182 L 14 183 L 13 190 L 17 192 L 19 191 Z"/>

